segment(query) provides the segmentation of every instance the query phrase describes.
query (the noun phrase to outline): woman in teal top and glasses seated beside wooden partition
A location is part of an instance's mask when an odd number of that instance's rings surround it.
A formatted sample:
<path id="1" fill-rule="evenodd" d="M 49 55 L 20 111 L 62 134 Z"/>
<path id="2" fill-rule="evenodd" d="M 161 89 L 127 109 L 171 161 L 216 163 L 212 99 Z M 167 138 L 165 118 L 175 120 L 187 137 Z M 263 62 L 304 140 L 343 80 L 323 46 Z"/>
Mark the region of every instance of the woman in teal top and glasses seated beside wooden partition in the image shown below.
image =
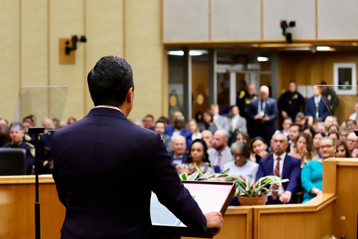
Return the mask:
<path id="1" fill-rule="evenodd" d="M 323 160 L 334 157 L 335 151 L 335 144 L 331 138 L 324 137 L 321 139 L 319 153 L 322 158 L 311 160 L 305 165 L 301 172 L 301 183 L 305 190 L 302 203 L 322 194 Z"/>

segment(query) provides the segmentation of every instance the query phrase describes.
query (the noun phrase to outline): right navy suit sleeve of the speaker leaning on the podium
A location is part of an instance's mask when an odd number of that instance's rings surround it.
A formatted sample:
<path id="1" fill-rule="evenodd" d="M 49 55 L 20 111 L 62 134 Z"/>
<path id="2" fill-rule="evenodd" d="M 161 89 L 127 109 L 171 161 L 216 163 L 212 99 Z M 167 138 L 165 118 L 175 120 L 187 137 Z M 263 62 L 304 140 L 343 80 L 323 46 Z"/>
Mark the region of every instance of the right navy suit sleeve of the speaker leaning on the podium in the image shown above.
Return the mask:
<path id="1" fill-rule="evenodd" d="M 188 227 L 206 231 L 206 218 L 171 165 L 170 156 L 158 133 L 155 137 L 150 183 L 159 202 L 179 220 Z"/>

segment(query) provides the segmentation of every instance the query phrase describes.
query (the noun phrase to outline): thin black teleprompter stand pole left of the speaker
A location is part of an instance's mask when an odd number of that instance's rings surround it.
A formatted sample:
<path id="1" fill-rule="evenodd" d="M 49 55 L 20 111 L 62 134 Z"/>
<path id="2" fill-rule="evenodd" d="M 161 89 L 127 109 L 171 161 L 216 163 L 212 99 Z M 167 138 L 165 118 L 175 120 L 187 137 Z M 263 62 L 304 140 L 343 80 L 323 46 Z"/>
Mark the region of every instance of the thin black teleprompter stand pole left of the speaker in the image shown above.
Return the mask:
<path id="1" fill-rule="evenodd" d="M 40 231 L 40 202 L 39 202 L 39 171 L 38 171 L 38 141 L 39 134 L 43 133 L 44 127 L 30 127 L 28 130 L 29 134 L 35 135 L 35 239 L 41 238 Z"/>

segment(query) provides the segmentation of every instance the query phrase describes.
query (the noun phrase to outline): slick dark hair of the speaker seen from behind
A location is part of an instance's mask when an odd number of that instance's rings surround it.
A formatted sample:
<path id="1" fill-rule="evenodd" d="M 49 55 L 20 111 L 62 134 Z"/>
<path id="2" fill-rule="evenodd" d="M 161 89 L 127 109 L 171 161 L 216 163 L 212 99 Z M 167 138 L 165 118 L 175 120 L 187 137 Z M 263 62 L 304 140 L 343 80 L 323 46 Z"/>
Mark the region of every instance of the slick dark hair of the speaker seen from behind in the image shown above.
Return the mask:
<path id="1" fill-rule="evenodd" d="M 121 57 L 102 57 L 89 71 L 87 83 L 95 106 L 120 106 L 130 87 L 134 90 L 132 67 Z"/>

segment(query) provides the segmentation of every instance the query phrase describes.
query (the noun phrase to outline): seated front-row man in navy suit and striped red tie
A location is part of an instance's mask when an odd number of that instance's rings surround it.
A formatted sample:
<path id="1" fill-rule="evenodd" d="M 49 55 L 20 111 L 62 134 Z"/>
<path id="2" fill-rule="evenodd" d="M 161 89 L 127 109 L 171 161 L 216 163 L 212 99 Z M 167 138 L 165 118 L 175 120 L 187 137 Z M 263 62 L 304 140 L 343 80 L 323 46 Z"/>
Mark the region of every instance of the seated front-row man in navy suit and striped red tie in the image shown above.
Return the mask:
<path id="1" fill-rule="evenodd" d="M 258 171 L 256 174 L 256 181 L 264 176 L 275 175 L 276 167 L 277 173 L 281 179 L 288 178 L 290 181 L 282 183 L 282 186 L 278 188 L 278 192 L 267 193 L 266 204 L 286 204 L 295 203 L 295 193 L 297 187 L 300 186 L 301 176 L 301 161 L 298 158 L 291 157 L 286 154 L 286 149 L 289 146 L 287 137 L 282 133 L 277 133 L 272 136 L 271 147 L 274 154 L 262 158 Z M 277 166 L 278 163 L 278 166 Z M 277 176 L 277 175 L 276 175 Z M 273 186 L 270 186 L 272 190 Z"/>

